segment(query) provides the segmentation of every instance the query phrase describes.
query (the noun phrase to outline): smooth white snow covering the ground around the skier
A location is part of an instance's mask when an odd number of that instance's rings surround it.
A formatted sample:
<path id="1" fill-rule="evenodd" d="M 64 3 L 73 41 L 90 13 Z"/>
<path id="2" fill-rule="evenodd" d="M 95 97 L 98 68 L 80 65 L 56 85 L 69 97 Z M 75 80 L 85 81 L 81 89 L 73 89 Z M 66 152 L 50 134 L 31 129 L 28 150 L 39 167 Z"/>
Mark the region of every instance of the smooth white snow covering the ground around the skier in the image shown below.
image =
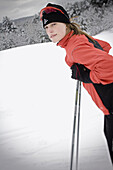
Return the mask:
<path id="1" fill-rule="evenodd" d="M 113 46 L 113 29 L 96 37 Z M 76 81 L 64 60 L 53 43 L 0 52 L 0 170 L 69 170 Z M 82 87 L 79 170 L 112 170 L 103 120 Z"/>

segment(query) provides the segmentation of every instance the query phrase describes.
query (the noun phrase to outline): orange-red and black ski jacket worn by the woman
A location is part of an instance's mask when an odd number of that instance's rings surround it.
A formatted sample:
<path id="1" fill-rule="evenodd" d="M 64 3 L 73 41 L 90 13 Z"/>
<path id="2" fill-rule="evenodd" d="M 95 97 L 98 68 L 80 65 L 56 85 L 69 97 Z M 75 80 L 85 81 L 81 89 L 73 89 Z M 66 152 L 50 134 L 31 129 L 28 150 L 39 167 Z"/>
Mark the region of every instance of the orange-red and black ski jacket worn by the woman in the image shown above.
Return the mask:
<path id="1" fill-rule="evenodd" d="M 73 31 L 57 45 L 65 48 L 65 61 L 69 67 L 79 63 L 90 70 L 90 79 L 93 83 L 83 83 L 83 86 L 103 113 L 109 115 L 113 112 L 113 57 L 108 54 L 111 46 L 105 41 L 94 40 L 104 51 L 95 48 L 85 35 L 73 35 Z M 99 88 L 96 88 L 96 85 Z"/>

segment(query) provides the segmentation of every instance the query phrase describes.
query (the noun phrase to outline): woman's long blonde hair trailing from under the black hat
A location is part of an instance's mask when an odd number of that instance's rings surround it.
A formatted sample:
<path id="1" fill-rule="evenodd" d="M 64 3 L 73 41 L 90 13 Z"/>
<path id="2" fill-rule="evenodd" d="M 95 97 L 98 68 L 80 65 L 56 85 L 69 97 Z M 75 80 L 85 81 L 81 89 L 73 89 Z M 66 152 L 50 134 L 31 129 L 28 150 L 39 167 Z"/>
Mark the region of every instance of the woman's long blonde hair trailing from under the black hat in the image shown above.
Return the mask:
<path id="1" fill-rule="evenodd" d="M 90 35 L 88 35 L 86 32 L 82 31 L 80 28 L 80 25 L 78 25 L 77 23 L 66 23 L 66 34 L 68 34 L 70 31 L 74 31 L 73 35 L 85 35 L 88 39 L 90 39 L 91 41 L 93 41 L 95 43 L 95 41 L 92 39 L 92 37 Z M 72 36 L 73 36 L 72 35 Z"/>

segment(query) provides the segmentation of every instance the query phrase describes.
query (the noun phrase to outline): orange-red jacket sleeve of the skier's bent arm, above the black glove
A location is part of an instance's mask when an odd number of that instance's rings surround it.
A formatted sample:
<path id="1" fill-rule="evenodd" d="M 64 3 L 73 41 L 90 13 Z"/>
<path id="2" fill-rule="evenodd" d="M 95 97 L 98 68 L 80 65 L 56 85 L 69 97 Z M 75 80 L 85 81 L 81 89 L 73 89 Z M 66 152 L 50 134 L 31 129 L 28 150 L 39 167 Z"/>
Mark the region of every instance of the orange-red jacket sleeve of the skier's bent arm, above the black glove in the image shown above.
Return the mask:
<path id="1" fill-rule="evenodd" d="M 73 62 L 91 70 L 90 79 L 93 83 L 113 82 L 113 57 L 107 52 L 94 48 L 89 42 L 83 42 L 71 51 L 71 57 Z"/>

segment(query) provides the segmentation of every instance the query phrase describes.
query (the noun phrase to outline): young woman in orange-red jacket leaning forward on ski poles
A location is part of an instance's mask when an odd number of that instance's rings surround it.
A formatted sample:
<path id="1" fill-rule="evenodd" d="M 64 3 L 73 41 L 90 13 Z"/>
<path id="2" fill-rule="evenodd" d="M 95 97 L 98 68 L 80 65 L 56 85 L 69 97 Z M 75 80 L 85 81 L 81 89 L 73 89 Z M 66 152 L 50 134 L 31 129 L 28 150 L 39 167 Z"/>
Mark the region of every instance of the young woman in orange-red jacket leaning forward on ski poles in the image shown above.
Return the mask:
<path id="1" fill-rule="evenodd" d="M 103 111 L 104 133 L 113 164 L 113 57 L 111 46 L 83 32 L 71 23 L 65 9 L 48 3 L 40 11 L 40 19 L 52 42 L 65 48 L 65 61 L 72 78 L 83 82 L 96 105 Z"/>

